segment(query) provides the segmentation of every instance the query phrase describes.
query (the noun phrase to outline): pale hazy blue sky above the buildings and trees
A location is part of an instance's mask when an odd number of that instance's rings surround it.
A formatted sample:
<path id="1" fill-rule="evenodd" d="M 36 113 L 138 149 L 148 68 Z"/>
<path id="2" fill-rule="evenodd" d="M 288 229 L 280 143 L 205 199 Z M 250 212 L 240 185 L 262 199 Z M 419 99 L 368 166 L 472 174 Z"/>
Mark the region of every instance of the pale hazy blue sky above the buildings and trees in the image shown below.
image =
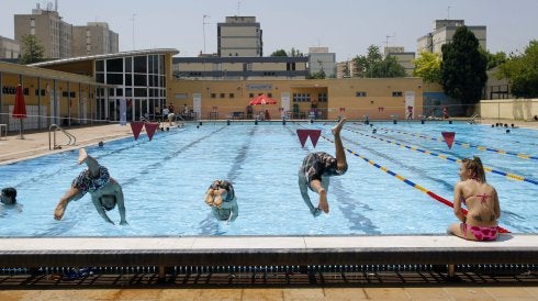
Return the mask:
<path id="1" fill-rule="evenodd" d="M 54 0 L 51 0 L 54 4 Z M 363 55 L 369 45 L 404 46 L 436 19 L 487 26 L 492 53 L 523 51 L 538 40 L 538 0 L 57 0 L 59 14 L 74 25 L 108 22 L 120 34 L 120 51 L 171 47 L 180 56 L 216 52 L 216 23 L 228 15 L 256 16 L 264 31 L 264 55 L 276 49 L 303 53 L 326 46 L 337 60 Z M 0 0 L 0 35 L 13 38 L 13 15 L 30 14 L 40 0 Z M 133 18 L 134 16 L 134 18 Z M 134 20 L 134 21 L 133 21 Z M 134 41 L 133 41 L 134 25 Z M 389 36 L 389 37 L 388 37 Z M 133 43 L 134 42 L 134 43 Z"/>

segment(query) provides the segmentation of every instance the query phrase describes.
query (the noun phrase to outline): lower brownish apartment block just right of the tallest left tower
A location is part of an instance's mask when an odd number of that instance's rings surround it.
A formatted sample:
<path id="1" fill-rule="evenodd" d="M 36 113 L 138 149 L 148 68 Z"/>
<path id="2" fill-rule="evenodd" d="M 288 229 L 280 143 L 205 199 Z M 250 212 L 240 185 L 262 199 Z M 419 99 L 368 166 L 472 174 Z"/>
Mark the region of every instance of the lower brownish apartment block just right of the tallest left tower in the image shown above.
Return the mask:
<path id="1" fill-rule="evenodd" d="M 105 22 L 88 22 L 72 26 L 72 56 L 113 54 L 119 52 L 119 35 Z"/>

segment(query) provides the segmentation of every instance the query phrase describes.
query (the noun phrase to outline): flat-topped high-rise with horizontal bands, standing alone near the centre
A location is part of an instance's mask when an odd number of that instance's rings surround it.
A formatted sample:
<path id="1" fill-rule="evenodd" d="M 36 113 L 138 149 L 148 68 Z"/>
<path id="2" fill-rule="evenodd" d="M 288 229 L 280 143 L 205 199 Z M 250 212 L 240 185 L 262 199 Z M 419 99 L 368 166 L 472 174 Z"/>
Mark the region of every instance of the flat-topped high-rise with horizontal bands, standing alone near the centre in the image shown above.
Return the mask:
<path id="1" fill-rule="evenodd" d="M 226 22 L 218 23 L 216 30 L 218 56 L 264 56 L 261 29 L 256 16 L 226 16 Z"/>

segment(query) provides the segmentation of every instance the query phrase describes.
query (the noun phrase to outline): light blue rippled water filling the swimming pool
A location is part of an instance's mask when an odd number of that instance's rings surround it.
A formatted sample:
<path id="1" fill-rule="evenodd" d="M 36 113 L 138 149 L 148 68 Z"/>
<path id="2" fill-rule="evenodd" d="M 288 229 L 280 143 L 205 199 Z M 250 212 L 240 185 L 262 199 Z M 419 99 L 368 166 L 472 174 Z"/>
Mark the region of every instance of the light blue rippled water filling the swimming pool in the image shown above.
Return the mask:
<path id="1" fill-rule="evenodd" d="M 349 169 L 330 180 L 330 213 L 313 218 L 296 174 L 309 152 L 334 154 L 332 125 L 204 123 L 158 132 L 150 142 L 142 135 L 88 147 L 122 185 L 127 226 L 117 225 L 117 210 L 109 212 L 116 225 L 105 223 L 89 196 L 71 202 L 61 221 L 53 219 L 58 199 L 83 168 L 75 150 L 0 166 L 0 183 L 15 187 L 23 204 L 22 212 L 3 208 L 0 236 L 440 234 L 456 222 L 451 208 L 410 183 L 452 201 L 455 160 L 473 155 L 493 170 L 486 178 L 500 194 L 501 225 L 538 232 L 538 131 L 507 134 L 467 123 L 374 123 L 372 134 L 373 127 L 349 121 L 341 133 L 352 152 Z M 302 147 L 298 129 L 321 129 L 323 137 L 315 148 L 310 141 Z M 451 149 L 441 132 L 456 133 Z M 214 179 L 234 183 L 234 223 L 216 222 L 203 201 Z M 312 192 L 311 198 L 316 200 Z"/>

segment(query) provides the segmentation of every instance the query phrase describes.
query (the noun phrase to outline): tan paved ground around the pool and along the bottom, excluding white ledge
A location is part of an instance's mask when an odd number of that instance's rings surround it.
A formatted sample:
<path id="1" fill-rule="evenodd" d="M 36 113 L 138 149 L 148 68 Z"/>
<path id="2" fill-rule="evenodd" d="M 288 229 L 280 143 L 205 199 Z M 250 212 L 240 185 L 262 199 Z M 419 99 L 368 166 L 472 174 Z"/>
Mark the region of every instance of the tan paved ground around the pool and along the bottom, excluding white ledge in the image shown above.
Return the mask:
<path id="1" fill-rule="evenodd" d="M 507 123 L 508 126 L 514 123 L 516 126 L 538 129 L 538 122 L 482 121 L 484 124 L 497 122 Z M 0 140 L 0 165 L 53 152 L 75 149 L 100 141 L 132 136 L 128 125 L 117 124 L 72 127 L 67 131 L 77 137 L 76 145 L 56 150 L 49 150 L 49 136 L 46 132 L 25 133 L 24 140 L 20 140 L 16 133 L 10 133 L 7 140 Z M 61 144 L 67 142 L 67 138 L 58 132 L 57 142 Z M 228 287 L 226 283 L 202 283 L 198 287 L 178 283 L 162 287 L 150 283 L 134 285 L 130 280 L 111 288 L 72 282 L 41 287 L 40 282 L 29 282 L 25 278 L 18 282 L 16 277 L 0 277 L 0 300 L 538 300 L 538 283 L 522 282 L 517 277 L 479 279 L 480 281 L 464 283 L 439 283 L 427 279 L 426 275 L 418 274 L 407 282 L 399 279 L 400 281 L 381 281 L 374 285 L 359 282 L 352 287 L 281 285 L 267 288 L 248 285 Z M 11 286 L 9 281 L 13 281 Z"/>

